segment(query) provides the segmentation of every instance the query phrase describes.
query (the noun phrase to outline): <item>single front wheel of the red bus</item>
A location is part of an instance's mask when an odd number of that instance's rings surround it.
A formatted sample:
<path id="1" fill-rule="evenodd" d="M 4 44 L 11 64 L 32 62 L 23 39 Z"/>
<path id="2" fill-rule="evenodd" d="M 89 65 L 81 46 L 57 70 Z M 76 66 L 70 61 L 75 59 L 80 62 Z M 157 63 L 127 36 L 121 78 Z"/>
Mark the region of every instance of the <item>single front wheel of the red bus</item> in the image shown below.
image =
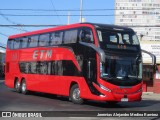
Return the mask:
<path id="1" fill-rule="evenodd" d="M 80 98 L 80 89 L 77 84 L 74 84 L 70 89 L 70 100 L 74 104 L 82 104 L 83 99 Z"/>

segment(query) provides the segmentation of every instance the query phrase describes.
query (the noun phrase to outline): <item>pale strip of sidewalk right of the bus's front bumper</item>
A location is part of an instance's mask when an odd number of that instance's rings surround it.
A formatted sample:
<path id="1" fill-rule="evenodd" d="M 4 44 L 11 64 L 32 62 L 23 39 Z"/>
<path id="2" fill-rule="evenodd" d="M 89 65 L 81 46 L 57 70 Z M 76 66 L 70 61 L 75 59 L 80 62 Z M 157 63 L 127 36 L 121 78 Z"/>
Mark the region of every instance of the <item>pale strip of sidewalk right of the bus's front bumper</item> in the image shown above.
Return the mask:
<path id="1" fill-rule="evenodd" d="M 142 94 L 143 100 L 159 100 L 160 101 L 160 94 L 152 93 L 152 92 L 143 92 Z"/>

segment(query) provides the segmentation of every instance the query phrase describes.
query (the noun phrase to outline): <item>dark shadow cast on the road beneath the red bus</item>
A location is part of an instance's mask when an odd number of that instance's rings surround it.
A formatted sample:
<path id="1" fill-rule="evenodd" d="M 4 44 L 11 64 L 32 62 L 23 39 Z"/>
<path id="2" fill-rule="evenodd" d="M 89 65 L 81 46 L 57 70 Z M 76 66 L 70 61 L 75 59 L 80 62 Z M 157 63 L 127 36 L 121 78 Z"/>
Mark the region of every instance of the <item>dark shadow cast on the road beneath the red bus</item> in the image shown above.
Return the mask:
<path id="1" fill-rule="evenodd" d="M 34 95 L 34 96 L 44 97 L 44 98 L 49 98 L 54 100 L 60 100 L 64 102 L 70 102 L 68 97 L 54 95 L 54 94 L 30 92 L 29 95 Z M 151 99 L 151 100 L 142 100 L 137 102 L 119 102 L 117 104 L 110 104 L 110 103 L 101 102 L 101 101 L 85 100 L 85 102 L 83 103 L 84 106 L 91 106 L 91 107 L 98 107 L 98 108 L 136 108 L 136 111 L 141 110 L 137 108 L 145 108 L 145 107 L 153 106 L 154 104 L 159 104 L 159 101 Z M 119 110 L 121 111 L 121 109 Z"/>

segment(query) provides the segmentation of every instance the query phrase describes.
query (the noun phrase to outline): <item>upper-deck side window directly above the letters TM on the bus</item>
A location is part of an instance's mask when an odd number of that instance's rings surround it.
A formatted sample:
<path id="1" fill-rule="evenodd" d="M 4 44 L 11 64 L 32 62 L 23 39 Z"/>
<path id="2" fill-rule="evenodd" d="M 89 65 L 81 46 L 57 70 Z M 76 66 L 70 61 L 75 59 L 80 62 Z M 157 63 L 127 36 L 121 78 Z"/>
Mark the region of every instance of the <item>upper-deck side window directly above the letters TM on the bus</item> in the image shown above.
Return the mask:
<path id="1" fill-rule="evenodd" d="M 39 37 L 39 46 L 47 46 L 49 45 L 49 34 L 43 34 Z"/>

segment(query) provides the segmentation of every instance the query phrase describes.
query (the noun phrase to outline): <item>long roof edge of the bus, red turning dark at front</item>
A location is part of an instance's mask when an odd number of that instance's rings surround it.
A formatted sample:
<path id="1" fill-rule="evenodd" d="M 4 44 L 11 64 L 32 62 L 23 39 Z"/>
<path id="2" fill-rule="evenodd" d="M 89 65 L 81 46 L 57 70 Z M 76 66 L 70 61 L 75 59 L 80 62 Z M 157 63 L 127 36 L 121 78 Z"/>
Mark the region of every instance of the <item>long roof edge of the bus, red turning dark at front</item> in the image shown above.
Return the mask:
<path id="1" fill-rule="evenodd" d="M 56 30 L 65 30 L 65 29 L 71 29 L 75 27 L 81 27 L 81 26 L 94 26 L 96 28 L 105 28 L 108 30 L 123 30 L 123 31 L 133 31 L 131 28 L 117 26 L 117 25 L 109 25 L 109 24 L 99 24 L 99 23 L 76 23 L 71 25 L 63 25 L 63 26 L 57 26 L 53 28 L 48 29 L 42 29 L 42 30 L 36 30 L 32 32 L 25 32 L 21 34 L 11 35 L 9 36 L 9 39 L 24 37 L 24 36 L 31 36 L 36 34 L 42 34 L 42 33 L 48 33 Z"/>

